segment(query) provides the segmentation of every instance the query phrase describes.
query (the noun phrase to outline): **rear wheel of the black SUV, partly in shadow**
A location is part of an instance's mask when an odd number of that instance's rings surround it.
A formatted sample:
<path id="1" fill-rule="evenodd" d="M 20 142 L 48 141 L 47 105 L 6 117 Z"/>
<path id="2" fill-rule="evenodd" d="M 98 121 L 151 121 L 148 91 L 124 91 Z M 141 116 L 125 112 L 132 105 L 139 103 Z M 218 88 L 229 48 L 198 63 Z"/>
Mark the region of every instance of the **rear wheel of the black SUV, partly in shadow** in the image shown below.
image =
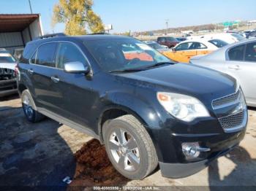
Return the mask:
<path id="1" fill-rule="evenodd" d="M 23 90 L 21 94 L 21 103 L 23 112 L 29 122 L 39 122 L 45 118 L 44 115 L 35 110 L 36 106 L 29 90 Z"/>

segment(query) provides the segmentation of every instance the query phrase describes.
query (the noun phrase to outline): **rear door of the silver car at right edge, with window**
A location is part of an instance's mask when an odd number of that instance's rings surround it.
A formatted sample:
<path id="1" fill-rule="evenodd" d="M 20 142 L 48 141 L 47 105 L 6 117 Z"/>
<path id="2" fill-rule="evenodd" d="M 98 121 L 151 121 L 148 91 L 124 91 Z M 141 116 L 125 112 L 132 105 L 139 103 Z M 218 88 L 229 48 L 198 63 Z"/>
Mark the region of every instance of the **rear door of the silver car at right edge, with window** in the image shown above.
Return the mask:
<path id="1" fill-rule="evenodd" d="M 256 42 L 233 47 L 227 55 L 227 73 L 238 79 L 246 101 L 256 104 Z"/>

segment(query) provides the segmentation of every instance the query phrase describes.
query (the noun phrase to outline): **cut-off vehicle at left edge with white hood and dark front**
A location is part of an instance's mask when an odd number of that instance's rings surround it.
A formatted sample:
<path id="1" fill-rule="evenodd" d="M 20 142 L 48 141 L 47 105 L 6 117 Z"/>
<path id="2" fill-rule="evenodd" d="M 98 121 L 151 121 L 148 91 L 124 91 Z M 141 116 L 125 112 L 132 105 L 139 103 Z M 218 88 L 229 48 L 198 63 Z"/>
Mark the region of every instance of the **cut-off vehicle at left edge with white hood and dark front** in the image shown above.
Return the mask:
<path id="1" fill-rule="evenodd" d="M 15 58 L 7 50 L 0 49 L 0 98 L 18 93 L 15 66 Z"/>

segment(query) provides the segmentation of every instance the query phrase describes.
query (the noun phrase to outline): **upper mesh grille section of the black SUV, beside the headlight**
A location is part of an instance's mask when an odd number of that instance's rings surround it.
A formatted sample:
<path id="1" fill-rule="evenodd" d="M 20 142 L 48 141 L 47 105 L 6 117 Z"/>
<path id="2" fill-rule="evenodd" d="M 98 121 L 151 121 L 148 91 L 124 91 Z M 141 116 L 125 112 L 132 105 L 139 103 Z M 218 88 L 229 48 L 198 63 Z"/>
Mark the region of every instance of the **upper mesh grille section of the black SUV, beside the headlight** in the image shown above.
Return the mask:
<path id="1" fill-rule="evenodd" d="M 240 95 L 241 95 L 241 90 L 239 89 L 236 93 L 227 95 L 222 98 L 215 99 L 212 102 L 212 106 L 214 109 L 217 109 L 217 108 L 225 106 L 227 104 L 233 104 L 234 102 L 239 101 Z"/>

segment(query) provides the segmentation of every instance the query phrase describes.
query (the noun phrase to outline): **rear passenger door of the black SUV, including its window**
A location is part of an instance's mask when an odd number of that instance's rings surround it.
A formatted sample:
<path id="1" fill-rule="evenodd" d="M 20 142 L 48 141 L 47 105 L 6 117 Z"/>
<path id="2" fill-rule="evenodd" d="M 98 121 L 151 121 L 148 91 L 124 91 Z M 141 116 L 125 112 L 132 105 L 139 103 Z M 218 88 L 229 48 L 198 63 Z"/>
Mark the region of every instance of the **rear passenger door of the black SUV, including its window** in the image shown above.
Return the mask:
<path id="1" fill-rule="evenodd" d="M 37 106 L 53 111 L 59 94 L 53 89 L 50 77 L 54 74 L 57 43 L 42 44 L 29 61 L 28 73 L 34 86 Z"/>

